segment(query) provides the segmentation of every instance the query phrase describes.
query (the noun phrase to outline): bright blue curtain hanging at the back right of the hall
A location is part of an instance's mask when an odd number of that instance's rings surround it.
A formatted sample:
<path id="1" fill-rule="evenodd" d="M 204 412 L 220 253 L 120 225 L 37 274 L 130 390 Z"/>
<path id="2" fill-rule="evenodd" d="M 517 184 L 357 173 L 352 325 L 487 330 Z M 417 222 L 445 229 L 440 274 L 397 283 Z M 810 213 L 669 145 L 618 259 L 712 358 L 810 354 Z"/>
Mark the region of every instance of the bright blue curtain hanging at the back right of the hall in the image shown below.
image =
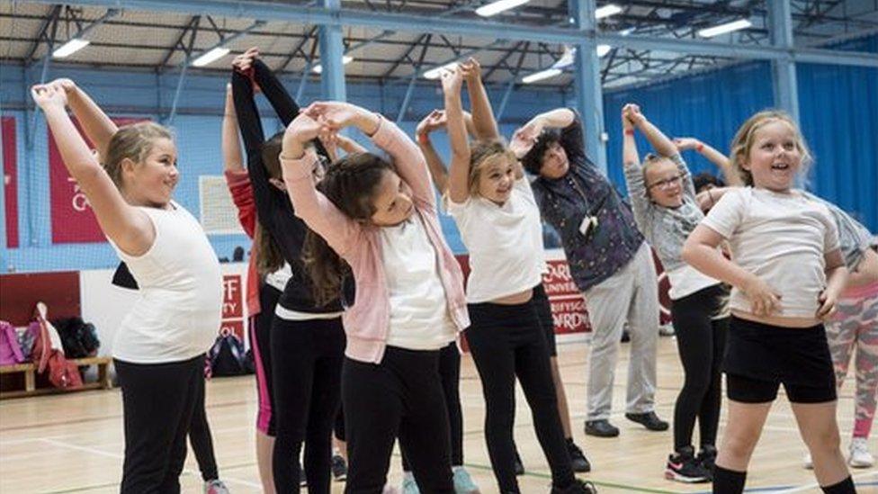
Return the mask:
<path id="1" fill-rule="evenodd" d="M 878 53 L 878 36 L 835 49 Z M 802 133 L 814 164 L 807 186 L 878 231 L 878 69 L 799 64 Z M 625 103 L 638 103 L 668 136 L 692 136 L 728 153 L 739 125 L 773 105 L 771 67 L 751 62 L 604 96 L 608 175 L 624 190 L 622 124 Z M 650 149 L 638 140 L 641 153 Z M 685 153 L 693 173 L 717 170 L 694 151 Z"/>

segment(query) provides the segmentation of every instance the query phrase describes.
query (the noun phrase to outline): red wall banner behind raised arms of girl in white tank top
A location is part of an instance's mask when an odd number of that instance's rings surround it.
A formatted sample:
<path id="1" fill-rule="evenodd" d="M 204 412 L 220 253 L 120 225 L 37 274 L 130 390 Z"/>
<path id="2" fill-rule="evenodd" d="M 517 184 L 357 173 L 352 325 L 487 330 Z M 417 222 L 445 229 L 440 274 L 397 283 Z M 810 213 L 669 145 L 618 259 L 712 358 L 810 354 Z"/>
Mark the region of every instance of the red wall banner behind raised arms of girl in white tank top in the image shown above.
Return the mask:
<path id="1" fill-rule="evenodd" d="M 116 125 L 127 125 L 144 119 L 112 119 Z M 74 121 L 76 123 L 76 121 Z M 80 129 L 78 123 L 76 128 Z M 82 134 L 82 130 L 80 130 Z M 85 138 L 85 135 L 83 134 Z M 67 173 L 64 160 L 49 131 L 49 197 L 51 202 L 52 243 L 105 242 L 101 228 L 94 219 L 91 206 L 76 180 Z M 88 142 L 88 139 L 85 139 Z M 88 142 L 89 146 L 92 146 Z"/>

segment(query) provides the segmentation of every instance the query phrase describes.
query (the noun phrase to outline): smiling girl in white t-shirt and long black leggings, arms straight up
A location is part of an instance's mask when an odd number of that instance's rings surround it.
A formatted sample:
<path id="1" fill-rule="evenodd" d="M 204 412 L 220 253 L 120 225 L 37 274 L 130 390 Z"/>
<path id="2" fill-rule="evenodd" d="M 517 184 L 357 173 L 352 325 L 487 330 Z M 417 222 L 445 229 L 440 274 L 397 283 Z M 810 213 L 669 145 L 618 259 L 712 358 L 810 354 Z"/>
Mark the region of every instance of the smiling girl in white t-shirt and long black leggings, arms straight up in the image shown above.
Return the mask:
<path id="1" fill-rule="evenodd" d="M 533 306 L 542 283 L 540 211 L 515 155 L 500 142 L 470 149 L 461 104 L 463 71 L 443 73 L 447 130 L 452 158 L 447 208 L 470 253 L 467 342 L 486 401 L 485 437 L 499 491 L 519 492 L 515 480 L 515 377 L 533 413 L 533 427 L 551 467 L 553 493 L 591 490 L 573 473 L 551 380 L 549 354 Z M 485 97 L 472 91 L 471 98 Z M 473 121 L 488 104 L 473 104 Z M 488 117 L 492 118 L 492 117 Z"/>

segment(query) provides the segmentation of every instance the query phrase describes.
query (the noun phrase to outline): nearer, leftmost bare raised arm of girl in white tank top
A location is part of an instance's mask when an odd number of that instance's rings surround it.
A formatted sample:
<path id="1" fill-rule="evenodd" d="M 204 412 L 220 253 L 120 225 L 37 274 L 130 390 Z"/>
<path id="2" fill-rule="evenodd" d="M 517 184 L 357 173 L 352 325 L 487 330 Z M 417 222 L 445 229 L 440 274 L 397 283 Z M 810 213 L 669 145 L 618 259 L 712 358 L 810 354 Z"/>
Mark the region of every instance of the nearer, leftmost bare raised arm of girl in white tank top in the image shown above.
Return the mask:
<path id="1" fill-rule="evenodd" d="M 79 135 L 67 115 L 65 91 L 53 85 L 35 85 L 31 88 L 31 95 L 46 115 L 46 123 L 52 130 L 64 166 L 85 193 L 103 233 L 130 256 L 146 252 L 156 239 L 152 222 L 145 212 L 125 201 Z"/>

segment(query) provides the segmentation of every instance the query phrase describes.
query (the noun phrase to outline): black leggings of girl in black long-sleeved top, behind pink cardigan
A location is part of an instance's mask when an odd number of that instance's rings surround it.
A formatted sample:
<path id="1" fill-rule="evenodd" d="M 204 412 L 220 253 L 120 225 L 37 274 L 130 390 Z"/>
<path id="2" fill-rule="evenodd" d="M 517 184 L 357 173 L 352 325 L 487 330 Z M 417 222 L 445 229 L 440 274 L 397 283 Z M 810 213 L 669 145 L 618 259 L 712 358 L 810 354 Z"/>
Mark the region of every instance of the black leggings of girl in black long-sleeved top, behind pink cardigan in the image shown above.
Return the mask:
<path id="1" fill-rule="evenodd" d="M 345 353 L 342 320 L 275 317 L 272 346 L 274 489 L 299 492 L 299 453 L 304 443 L 308 491 L 327 494 Z"/>

